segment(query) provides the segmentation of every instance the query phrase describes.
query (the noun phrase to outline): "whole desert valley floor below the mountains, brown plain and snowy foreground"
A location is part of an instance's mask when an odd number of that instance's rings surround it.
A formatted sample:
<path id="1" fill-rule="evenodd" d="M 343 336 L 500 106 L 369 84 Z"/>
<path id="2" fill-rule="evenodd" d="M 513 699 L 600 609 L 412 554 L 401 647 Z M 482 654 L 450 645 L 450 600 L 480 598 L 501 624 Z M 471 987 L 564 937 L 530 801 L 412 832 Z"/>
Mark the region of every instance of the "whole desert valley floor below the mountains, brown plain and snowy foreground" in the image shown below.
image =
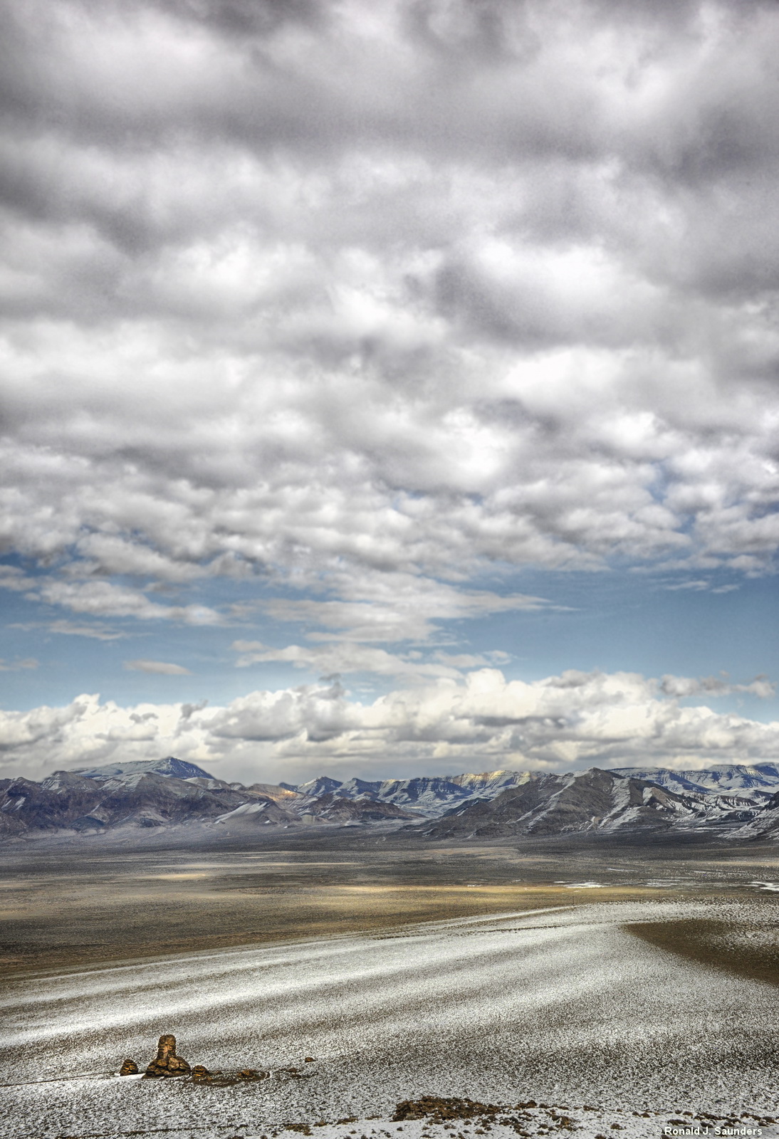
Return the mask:
<path id="1" fill-rule="evenodd" d="M 779 1134 L 776 847 L 81 841 L 1 869 L 3 1137 Z M 164 1032 L 262 1077 L 115 1074 Z M 424 1096 L 459 1104 L 397 1112 Z"/>

